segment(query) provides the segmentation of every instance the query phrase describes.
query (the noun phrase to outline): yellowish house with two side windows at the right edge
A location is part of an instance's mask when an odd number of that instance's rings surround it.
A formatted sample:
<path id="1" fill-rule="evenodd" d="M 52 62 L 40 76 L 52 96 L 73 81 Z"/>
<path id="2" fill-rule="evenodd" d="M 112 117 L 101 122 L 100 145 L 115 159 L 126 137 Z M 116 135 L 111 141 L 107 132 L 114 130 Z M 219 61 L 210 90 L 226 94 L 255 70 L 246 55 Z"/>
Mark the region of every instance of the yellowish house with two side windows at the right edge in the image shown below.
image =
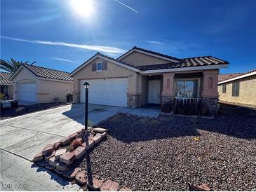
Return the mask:
<path id="1" fill-rule="evenodd" d="M 256 107 L 256 69 L 247 73 L 220 74 L 220 102 Z"/>

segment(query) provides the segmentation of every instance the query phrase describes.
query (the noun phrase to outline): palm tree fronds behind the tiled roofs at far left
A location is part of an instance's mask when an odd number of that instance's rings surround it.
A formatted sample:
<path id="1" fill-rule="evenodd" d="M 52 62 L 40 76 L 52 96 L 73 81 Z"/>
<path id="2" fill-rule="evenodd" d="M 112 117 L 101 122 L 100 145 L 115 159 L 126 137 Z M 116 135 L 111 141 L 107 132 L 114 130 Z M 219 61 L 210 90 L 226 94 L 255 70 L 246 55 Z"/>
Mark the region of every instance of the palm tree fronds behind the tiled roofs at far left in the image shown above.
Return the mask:
<path id="1" fill-rule="evenodd" d="M 32 62 L 32 64 L 34 63 L 36 62 Z M 13 74 L 20 68 L 22 64 L 29 64 L 29 62 L 18 62 L 16 60 L 13 60 L 12 58 L 11 61 L 0 60 L 0 69 L 3 69 L 4 71 L 8 71 L 9 73 Z"/>

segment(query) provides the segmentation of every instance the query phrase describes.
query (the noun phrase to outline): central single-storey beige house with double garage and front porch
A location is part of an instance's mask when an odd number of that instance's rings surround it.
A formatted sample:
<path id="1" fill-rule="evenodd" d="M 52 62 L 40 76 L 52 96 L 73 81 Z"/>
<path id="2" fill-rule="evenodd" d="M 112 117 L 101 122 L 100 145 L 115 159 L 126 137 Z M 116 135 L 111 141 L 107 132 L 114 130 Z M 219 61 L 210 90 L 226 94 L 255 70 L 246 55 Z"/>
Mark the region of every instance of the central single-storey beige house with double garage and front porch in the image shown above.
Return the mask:
<path id="1" fill-rule="evenodd" d="M 97 53 L 70 74 L 73 98 L 85 101 L 88 81 L 89 103 L 135 108 L 174 97 L 202 98 L 214 114 L 219 69 L 228 64 L 212 56 L 179 59 L 137 47 L 117 59 Z"/>

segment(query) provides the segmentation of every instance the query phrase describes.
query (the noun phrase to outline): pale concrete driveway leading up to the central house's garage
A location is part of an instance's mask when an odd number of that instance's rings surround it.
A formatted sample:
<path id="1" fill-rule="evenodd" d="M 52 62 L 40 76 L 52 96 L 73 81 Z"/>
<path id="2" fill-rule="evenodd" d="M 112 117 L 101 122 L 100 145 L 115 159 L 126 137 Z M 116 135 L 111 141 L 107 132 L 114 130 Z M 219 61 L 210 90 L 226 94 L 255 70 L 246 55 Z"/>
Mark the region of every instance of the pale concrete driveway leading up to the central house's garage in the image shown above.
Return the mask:
<path id="1" fill-rule="evenodd" d="M 89 104 L 89 123 L 98 123 L 123 111 L 123 107 Z M 0 121 L 0 148 L 32 160 L 43 146 L 83 128 L 84 104 L 39 111 Z"/>

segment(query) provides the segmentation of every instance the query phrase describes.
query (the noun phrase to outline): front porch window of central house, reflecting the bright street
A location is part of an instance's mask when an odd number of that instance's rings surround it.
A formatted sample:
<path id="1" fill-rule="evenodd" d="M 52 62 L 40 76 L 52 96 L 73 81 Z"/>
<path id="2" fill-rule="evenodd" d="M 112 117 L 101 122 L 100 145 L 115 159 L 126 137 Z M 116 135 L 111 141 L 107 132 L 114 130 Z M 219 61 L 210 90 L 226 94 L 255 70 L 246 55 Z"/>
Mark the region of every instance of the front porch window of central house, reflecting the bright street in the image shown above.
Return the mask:
<path id="1" fill-rule="evenodd" d="M 196 98 L 198 97 L 197 80 L 175 81 L 175 97 L 177 98 Z"/>

